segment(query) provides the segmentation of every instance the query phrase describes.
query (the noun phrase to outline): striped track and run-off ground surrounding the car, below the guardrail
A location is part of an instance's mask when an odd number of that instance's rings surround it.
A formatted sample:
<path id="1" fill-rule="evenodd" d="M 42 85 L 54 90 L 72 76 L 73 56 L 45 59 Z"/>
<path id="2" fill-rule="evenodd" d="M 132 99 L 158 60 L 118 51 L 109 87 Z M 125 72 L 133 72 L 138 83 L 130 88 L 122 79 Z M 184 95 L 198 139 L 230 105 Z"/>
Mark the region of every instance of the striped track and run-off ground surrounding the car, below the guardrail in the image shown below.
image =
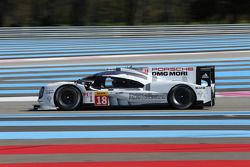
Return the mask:
<path id="1" fill-rule="evenodd" d="M 113 33 L 42 38 L 42 31 L 0 39 L 0 167 L 250 166 L 247 29 Z M 44 84 L 131 65 L 215 65 L 216 105 L 185 111 L 30 110 Z"/>

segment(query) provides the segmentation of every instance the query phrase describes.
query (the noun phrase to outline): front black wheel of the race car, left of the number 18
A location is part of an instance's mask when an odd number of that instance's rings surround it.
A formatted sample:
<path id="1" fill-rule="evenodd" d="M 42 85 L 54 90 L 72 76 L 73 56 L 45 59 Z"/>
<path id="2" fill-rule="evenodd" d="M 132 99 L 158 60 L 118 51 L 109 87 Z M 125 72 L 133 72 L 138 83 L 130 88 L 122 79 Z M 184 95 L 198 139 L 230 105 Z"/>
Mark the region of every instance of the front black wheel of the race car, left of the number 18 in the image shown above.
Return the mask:
<path id="1" fill-rule="evenodd" d="M 54 100 L 60 110 L 75 110 L 81 104 L 82 95 L 77 87 L 67 85 L 58 88 Z"/>

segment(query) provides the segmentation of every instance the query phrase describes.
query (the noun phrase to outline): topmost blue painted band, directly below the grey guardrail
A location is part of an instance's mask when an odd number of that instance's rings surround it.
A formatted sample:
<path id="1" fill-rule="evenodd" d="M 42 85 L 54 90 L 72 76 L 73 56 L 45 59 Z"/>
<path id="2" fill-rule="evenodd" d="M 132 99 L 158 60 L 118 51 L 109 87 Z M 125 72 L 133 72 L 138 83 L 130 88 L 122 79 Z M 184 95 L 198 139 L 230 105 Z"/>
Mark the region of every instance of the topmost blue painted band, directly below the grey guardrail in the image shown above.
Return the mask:
<path id="1" fill-rule="evenodd" d="M 244 36 L 245 35 L 245 36 Z M 16 44 L 16 45 L 25 45 L 25 44 L 32 44 L 32 43 L 37 43 L 37 44 L 80 44 L 80 43 L 103 43 L 103 42 L 113 42 L 113 43 L 118 43 L 118 42 L 123 42 L 123 43 L 129 43 L 129 42 L 149 42 L 149 41 L 230 41 L 233 39 L 233 41 L 237 40 L 243 40 L 249 39 L 249 34 L 235 34 L 235 35 L 216 35 L 216 36 L 208 36 L 208 35 L 196 35 L 196 36 L 162 36 L 162 37 L 122 37 L 122 38 L 81 38 L 81 39 L 11 39 L 11 40 L 0 40 L 0 43 L 2 45 L 9 45 L 9 44 Z M 232 42 L 233 42 L 232 41 Z"/>

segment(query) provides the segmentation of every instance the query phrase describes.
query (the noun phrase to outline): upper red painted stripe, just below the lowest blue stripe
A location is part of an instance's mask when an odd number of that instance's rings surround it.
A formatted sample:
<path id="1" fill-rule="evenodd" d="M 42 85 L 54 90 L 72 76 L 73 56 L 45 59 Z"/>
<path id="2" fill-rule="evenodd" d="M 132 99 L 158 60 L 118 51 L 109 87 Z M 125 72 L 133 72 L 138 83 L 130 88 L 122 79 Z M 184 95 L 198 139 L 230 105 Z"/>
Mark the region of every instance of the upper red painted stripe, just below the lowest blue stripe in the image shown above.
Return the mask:
<path id="1" fill-rule="evenodd" d="M 250 144 L 65 144 L 0 146 L 0 154 L 250 152 Z"/>

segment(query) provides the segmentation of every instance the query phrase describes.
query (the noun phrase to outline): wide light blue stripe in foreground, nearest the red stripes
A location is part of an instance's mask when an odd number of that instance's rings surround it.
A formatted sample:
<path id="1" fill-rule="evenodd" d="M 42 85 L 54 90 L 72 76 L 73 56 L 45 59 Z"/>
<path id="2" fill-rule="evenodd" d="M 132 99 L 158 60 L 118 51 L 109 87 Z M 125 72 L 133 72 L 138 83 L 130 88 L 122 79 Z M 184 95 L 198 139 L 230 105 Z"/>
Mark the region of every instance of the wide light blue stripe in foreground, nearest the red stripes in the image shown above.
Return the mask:
<path id="1" fill-rule="evenodd" d="M 1 132 L 0 140 L 81 138 L 231 138 L 250 137 L 248 130 Z"/>

